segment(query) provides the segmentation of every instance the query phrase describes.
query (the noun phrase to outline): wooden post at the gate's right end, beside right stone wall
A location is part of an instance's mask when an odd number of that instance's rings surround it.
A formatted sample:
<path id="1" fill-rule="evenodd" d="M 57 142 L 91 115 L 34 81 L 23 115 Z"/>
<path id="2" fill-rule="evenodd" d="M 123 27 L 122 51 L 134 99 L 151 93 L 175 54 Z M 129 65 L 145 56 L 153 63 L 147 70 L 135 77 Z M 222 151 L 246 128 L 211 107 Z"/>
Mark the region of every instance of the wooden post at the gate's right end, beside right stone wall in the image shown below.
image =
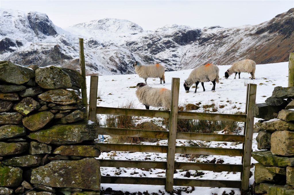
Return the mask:
<path id="1" fill-rule="evenodd" d="M 245 125 L 245 142 L 243 144 L 244 156 L 243 156 L 243 172 L 241 178 L 241 195 L 245 194 L 249 188 L 249 175 L 250 175 L 250 163 L 251 163 L 251 148 L 253 138 L 253 105 L 256 98 L 256 84 L 248 84 L 247 97 L 246 97 L 246 111 L 247 120 Z"/>

